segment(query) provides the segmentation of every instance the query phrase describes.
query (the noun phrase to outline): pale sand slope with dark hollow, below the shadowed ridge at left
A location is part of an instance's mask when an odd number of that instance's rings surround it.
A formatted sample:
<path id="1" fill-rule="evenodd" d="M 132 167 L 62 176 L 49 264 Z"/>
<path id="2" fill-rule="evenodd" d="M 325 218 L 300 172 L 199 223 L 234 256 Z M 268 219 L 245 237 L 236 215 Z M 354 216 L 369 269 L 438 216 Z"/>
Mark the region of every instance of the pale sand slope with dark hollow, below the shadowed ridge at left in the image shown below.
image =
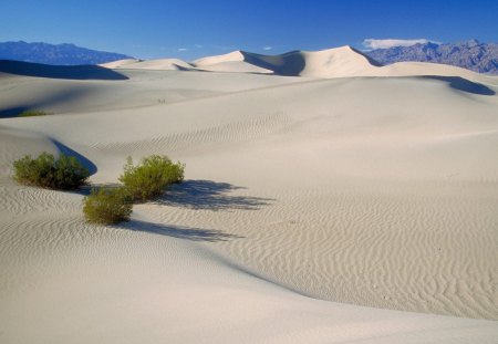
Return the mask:
<path id="1" fill-rule="evenodd" d="M 168 103 L 300 81 L 277 76 L 269 80 L 264 75 L 209 75 L 176 71 L 160 75 L 147 70 L 120 70 L 120 73 L 131 80 L 126 83 L 74 83 L 68 80 L 19 77 L 10 74 L 9 79 L 0 83 L 0 117 L 15 117 L 32 108 L 58 115 L 164 106 Z M 22 87 L 23 92 L 18 92 L 19 87 Z"/>

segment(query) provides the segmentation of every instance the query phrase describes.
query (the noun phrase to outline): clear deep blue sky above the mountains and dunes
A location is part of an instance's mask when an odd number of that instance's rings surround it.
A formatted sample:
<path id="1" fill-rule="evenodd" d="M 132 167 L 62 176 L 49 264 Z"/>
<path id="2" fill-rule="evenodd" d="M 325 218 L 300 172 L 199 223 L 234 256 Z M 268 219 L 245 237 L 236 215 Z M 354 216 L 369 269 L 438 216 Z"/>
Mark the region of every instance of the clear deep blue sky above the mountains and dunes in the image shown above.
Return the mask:
<path id="1" fill-rule="evenodd" d="M 498 42 L 498 0 L 0 0 L 0 41 L 142 59 L 277 54 L 365 39 Z"/>

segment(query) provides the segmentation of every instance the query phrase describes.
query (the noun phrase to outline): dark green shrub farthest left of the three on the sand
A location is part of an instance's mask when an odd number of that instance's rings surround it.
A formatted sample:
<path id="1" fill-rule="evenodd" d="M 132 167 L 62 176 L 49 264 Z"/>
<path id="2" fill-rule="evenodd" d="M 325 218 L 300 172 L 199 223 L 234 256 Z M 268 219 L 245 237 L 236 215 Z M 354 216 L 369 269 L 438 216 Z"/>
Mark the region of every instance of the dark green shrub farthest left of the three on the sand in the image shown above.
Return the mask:
<path id="1" fill-rule="evenodd" d="M 30 155 L 13 163 L 14 179 L 24 185 L 49 189 L 70 190 L 86 185 L 90 171 L 74 156 L 42 153 L 33 159 Z"/>

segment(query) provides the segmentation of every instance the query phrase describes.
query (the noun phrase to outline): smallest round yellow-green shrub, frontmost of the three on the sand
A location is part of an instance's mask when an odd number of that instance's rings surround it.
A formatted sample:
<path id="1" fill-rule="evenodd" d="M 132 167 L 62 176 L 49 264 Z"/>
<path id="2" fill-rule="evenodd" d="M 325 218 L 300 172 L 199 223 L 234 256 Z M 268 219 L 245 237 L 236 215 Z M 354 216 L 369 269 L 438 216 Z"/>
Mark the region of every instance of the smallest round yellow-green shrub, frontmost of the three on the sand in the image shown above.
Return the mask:
<path id="1" fill-rule="evenodd" d="M 133 199 L 123 188 L 94 189 L 83 200 L 83 213 L 87 222 L 114 225 L 129 221 Z"/>

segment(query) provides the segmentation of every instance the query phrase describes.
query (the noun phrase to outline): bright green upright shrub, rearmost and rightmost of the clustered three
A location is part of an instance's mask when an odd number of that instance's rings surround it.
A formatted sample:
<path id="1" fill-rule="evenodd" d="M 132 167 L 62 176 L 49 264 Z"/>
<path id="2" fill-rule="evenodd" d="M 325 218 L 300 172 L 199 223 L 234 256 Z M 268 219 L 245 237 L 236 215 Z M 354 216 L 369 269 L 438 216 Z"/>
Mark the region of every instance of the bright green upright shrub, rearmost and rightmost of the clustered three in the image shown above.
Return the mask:
<path id="1" fill-rule="evenodd" d="M 137 166 L 128 157 L 120 181 L 134 200 L 146 201 L 159 196 L 168 185 L 181 183 L 184 169 L 184 164 L 174 164 L 167 156 L 152 155 Z"/>

